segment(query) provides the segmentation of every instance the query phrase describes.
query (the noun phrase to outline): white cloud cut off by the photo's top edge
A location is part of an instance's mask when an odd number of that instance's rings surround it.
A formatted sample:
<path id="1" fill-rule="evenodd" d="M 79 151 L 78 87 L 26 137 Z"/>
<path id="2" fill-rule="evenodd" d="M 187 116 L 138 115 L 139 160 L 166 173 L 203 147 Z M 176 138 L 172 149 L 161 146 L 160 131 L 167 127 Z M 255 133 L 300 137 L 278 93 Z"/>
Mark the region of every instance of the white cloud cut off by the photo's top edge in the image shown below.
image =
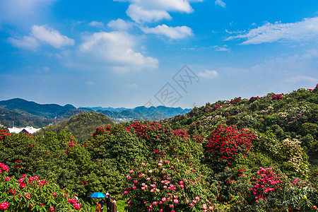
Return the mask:
<path id="1" fill-rule="evenodd" d="M 114 0 L 116 1 L 116 0 Z M 117 0 L 120 1 L 120 0 Z M 121 0 L 129 1 L 127 15 L 137 23 L 170 20 L 168 11 L 191 13 L 193 11 L 189 0 Z M 200 1 L 200 0 L 198 0 Z"/>

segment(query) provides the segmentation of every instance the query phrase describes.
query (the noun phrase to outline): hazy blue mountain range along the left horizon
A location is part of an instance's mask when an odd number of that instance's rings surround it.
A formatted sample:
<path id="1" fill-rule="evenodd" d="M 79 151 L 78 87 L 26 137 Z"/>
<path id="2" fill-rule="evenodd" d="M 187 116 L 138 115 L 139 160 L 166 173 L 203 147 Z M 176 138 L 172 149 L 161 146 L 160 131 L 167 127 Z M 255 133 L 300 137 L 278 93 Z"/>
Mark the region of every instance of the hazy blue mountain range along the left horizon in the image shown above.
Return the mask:
<path id="1" fill-rule="evenodd" d="M 0 101 L 0 124 L 4 126 L 35 126 L 57 124 L 73 115 L 95 111 L 105 114 L 114 122 L 128 122 L 131 120 L 160 120 L 175 117 L 177 114 L 186 114 L 191 109 L 181 107 L 74 107 L 73 105 L 38 104 L 20 98 Z"/>

